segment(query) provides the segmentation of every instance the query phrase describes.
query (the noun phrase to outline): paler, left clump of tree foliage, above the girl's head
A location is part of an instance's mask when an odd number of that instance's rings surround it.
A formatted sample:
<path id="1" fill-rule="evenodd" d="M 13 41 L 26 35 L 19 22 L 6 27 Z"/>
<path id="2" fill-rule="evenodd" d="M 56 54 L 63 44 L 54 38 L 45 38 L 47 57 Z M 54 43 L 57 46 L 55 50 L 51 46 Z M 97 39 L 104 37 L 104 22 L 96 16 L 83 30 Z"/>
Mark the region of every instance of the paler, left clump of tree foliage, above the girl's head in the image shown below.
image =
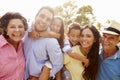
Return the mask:
<path id="1" fill-rule="evenodd" d="M 76 12 L 75 1 L 68 1 L 61 6 L 55 7 L 55 14 L 63 17 L 65 24 L 68 25 L 74 20 Z"/>

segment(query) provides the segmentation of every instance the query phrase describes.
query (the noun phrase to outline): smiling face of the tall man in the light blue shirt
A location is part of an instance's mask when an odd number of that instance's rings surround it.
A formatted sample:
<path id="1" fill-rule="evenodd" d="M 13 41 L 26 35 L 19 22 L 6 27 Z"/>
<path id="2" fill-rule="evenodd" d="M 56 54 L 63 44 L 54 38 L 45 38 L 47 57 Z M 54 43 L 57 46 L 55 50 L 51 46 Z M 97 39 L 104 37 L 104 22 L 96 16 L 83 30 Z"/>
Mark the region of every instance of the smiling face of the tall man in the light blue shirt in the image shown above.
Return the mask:
<path id="1" fill-rule="evenodd" d="M 38 32 L 46 31 L 52 20 L 53 14 L 47 9 L 42 9 L 35 17 L 35 30 Z"/>

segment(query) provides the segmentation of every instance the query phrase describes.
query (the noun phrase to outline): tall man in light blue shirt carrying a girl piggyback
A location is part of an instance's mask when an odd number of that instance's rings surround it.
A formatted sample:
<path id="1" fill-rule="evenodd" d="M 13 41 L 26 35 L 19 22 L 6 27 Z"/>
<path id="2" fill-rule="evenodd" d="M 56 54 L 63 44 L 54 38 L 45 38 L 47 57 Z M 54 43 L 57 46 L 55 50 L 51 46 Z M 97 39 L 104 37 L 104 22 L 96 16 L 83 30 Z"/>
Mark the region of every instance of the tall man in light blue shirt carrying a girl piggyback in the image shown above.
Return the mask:
<path id="1" fill-rule="evenodd" d="M 49 7 L 42 7 L 35 16 L 32 27 L 38 33 L 47 31 L 53 18 L 53 10 Z M 46 75 L 50 74 L 50 77 L 54 77 L 63 66 L 62 51 L 55 38 L 40 37 L 35 40 L 26 34 L 24 38 L 24 50 L 26 57 L 25 80 L 28 78 L 29 80 L 33 80 L 32 78 L 38 80 L 41 76 L 43 66 L 51 68 L 50 73 Z M 49 76 L 46 77 L 49 78 Z"/>

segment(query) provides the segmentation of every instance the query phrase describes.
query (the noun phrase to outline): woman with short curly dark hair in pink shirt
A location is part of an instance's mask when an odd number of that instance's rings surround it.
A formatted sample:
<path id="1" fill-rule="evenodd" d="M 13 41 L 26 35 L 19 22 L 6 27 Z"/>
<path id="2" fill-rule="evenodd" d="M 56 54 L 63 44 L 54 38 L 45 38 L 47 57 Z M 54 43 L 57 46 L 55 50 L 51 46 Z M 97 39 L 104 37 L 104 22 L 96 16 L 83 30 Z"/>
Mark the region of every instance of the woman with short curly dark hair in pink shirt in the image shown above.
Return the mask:
<path id="1" fill-rule="evenodd" d="M 22 38 L 28 27 L 19 13 L 7 12 L 0 18 L 0 80 L 23 80 L 25 58 Z"/>

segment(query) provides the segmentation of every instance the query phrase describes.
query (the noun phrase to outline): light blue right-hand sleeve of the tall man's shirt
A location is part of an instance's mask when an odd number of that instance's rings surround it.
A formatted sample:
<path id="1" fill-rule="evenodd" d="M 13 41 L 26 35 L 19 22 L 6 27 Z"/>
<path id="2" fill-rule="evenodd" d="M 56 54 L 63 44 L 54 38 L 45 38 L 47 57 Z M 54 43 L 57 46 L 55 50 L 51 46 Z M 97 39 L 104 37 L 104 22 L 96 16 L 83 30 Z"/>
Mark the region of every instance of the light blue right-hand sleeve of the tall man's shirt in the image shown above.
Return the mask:
<path id="1" fill-rule="evenodd" d="M 63 53 L 56 39 L 49 39 L 47 42 L 47 52 L 52 64 L 50 75 L 54 77 L 55 74 L 63 67 Z"/>

